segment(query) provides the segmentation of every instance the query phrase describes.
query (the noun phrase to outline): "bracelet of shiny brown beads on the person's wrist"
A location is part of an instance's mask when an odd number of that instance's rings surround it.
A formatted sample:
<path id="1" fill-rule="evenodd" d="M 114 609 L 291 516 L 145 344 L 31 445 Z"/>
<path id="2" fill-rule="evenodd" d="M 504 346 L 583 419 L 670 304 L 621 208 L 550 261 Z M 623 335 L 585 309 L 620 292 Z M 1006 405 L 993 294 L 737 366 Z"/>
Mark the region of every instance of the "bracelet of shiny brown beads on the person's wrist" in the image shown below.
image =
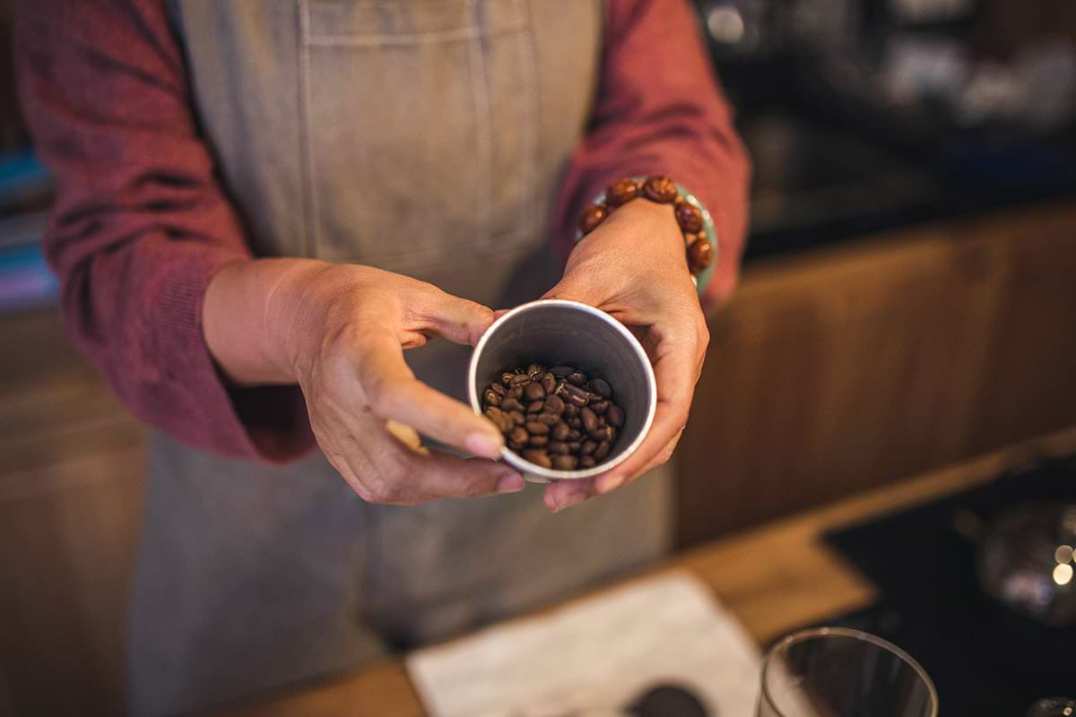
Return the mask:
<path id="1" fill-rule="evenodd" d="M 659 204 L 672 204 L 677 224 L 683 232 L 688 269 L 702 292 L 713 273 L 713 260 L 718 254 L 713 219 L 694 195 L 667 176 L 653 174 L 647 177 L 624 177 L 610 184 L 605 192 L 595 198 L 594 203 L 583 210 L 576 242 L 597 229 L 618 206 L 640 197 Z"/>

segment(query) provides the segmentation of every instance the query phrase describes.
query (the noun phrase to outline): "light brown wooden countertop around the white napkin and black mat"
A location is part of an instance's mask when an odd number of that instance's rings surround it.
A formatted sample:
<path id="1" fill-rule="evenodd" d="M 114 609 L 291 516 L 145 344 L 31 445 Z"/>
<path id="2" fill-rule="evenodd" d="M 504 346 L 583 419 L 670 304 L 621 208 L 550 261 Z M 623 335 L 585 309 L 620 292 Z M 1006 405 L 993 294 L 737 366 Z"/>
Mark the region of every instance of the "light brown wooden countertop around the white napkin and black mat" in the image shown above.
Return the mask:
<path id="1" fill-rule="evenodd" d="M 870 584 L 821 543 L 822 532 L 986 483 L 1036 457 L 1074 449 L 1076 428 L 718 541 L 652 572 L 678 568 L 692 571 L 765 645 L 801 626 L 864 607 L 872 601 Z M 425 713 L 402 661 L 392 659 L 218 714 L 411 717 Z"/>

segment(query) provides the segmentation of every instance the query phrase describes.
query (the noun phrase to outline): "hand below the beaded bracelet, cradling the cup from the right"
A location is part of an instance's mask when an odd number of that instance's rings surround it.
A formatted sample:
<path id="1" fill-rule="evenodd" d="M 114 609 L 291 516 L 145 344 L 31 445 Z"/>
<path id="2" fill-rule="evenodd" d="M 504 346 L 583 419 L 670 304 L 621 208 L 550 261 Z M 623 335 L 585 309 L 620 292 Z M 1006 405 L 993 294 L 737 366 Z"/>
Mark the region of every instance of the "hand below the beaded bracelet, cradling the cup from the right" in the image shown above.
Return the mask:
<path id="1" fill-rule="evenodd" d="M 657 381 L 654 422 L 638 449 L 594 478 L 547 486 L 546 505 L 555 512 L 669 459 L 688 421 L 710 334 L 671 204 L 637 200 L 619 207 L 575 247 L 563 278 L 542 298 L 572 299 L 618 318 L 639 338 Z"/>

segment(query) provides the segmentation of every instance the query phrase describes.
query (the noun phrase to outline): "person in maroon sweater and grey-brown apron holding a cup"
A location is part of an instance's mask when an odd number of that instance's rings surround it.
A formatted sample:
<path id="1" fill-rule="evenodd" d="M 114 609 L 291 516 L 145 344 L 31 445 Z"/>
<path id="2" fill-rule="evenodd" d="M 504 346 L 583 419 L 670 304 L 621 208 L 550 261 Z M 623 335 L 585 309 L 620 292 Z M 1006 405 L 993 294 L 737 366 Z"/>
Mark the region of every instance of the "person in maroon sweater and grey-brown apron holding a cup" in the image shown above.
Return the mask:
<path id="1" fill-rule="evenodd" d="M 636 478 L 686 421 L 749 173 L 684 0 L 18 14 L 66 325 L 154 429 L 133 712 L 343 670 L 664 553 L 669 481 Z M 714 218 L 702 304 L 667 204 L 572 245 L 610 182 L 654 173 Z M 493 310 L 541 296 L 635 327 L 659 391 L 638 451 L 544 505 L 459 400 Z"/>

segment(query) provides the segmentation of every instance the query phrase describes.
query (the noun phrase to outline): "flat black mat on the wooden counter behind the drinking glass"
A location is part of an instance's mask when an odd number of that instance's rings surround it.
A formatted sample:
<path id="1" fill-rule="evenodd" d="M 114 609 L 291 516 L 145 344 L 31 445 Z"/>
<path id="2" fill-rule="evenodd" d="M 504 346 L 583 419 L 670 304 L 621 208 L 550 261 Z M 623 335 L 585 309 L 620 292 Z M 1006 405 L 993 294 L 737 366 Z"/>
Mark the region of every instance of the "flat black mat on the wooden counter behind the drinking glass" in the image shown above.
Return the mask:
<path id="1" fill-rule="evenodd" d="M 1074 685 L 1076 628 L 1050 628 L 986 594 L 979 546 L 967 515 L 993 524 L 1025 501 L 1076 500 L 1076 458 L 1006 473 L 993 482 L 826 535 L 878 589 L 878 602 L 826 619 L 873 632 L 915 655 L 931 675 L 944 714 L 1022 715 L 1044 696 Z"/>

